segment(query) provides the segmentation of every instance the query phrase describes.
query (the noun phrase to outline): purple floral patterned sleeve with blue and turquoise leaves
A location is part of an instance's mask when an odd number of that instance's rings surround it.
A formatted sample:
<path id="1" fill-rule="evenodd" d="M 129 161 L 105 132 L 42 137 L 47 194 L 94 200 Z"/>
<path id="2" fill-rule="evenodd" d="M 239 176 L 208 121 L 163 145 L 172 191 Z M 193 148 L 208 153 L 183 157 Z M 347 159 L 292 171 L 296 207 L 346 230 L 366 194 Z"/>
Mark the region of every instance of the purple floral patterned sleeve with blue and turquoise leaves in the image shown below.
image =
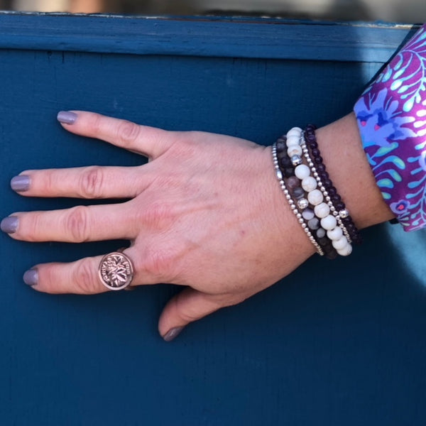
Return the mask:
<path id="1" fill-rule="evenodd" d="M 426 24 L 356 102 L 364 151 L 405 231 L 426 226 Z"/>

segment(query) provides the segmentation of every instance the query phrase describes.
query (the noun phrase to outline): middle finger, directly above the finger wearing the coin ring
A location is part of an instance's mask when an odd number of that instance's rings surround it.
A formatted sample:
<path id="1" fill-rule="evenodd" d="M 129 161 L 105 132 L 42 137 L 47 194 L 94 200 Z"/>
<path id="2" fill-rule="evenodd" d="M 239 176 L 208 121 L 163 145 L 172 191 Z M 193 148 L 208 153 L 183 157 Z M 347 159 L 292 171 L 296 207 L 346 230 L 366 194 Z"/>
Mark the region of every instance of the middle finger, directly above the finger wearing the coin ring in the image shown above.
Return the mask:
<path id="1" fill-rule="evenodd" d="M 23 241 L 82 243 L 107 239 L 134 239 L 136 217 L 127 203 L 77 206 L 47 212 L 18 212 L 1 221 L 1 230 Z"/>

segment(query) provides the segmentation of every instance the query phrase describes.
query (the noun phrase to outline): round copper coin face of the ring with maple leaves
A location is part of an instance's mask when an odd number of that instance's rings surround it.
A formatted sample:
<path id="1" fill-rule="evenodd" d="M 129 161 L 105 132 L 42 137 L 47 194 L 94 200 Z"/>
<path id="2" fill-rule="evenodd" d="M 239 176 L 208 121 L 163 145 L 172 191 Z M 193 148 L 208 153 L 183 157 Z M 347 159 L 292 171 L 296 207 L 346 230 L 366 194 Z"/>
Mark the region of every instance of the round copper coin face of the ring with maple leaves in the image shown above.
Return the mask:
<path id="1" fill-rule="evenodd" d="M 101 283 L 109 290 L 123 290 L 133 280 L 133 265 L 123 253 L 106 254 L 98 268 Z"/>

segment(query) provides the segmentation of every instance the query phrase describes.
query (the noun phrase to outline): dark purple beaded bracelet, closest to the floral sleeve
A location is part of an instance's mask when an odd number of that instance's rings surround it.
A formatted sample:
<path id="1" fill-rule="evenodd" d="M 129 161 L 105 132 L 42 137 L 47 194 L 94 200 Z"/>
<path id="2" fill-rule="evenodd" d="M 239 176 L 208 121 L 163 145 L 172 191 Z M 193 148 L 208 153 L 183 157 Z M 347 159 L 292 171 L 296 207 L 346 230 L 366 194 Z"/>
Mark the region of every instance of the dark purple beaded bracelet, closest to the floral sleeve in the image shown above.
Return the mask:
<path id="1" fill-rule="evenodd" d="M 333 186 L 333 182 L 330 180 L 329 174 L 327 173 L 325 165 L 322 162 L 320 148 L 318 148 L 317 138 L 315 136 L 315 129 L 316 127 L 313 124 L 306 126 L 304 132 L 305 143 L 307 148 L 310 150 L 312 160 L 309 157 L 309 153 L 307 153 L 307 157 L 305 155 L 305 158 L 307 158 L 314 175 L 315 173 L 317 174 L 315 177 L 318 180 L 318 185 L 321 187 L 324 197 L 326 197 L 327 203 L 336 217 L 339 226 L 344 231 L 345 236 L 348 238 L 349 242 L 353 241 L 355 244 L 361 244 L 362 237 L 359 234 L 359 231 L 356 228 L 349 211 L 346 209 L 342 198 L 337 193 L 336 188 Z"/>

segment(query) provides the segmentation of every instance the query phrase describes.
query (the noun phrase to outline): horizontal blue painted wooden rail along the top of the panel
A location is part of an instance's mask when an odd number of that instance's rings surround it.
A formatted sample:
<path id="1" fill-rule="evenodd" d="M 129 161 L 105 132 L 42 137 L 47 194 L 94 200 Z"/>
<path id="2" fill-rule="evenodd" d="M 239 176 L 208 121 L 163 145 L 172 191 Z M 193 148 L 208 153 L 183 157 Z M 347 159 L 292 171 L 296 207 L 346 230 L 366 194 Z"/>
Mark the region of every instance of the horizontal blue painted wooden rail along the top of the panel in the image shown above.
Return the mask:
<path id="1" fill-rule="evenodd" d="M 0 48 L 386 62 L 417 26 L 0 13 Z"/>

